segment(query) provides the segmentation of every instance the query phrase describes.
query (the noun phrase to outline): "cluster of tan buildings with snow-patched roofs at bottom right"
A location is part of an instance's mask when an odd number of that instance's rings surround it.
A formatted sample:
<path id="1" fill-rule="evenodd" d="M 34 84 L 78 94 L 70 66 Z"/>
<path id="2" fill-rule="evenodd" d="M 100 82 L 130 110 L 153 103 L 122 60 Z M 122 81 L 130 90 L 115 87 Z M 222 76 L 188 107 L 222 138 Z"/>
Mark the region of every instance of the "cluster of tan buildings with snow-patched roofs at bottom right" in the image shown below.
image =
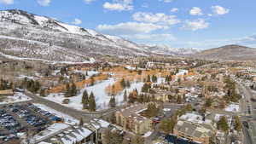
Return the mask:
<path id="1" fill-rule="evenodd" d="M 230 127 L 228 133 L 218 130 L 217 127 L 219 119 L 223 116 L 227 118 Z M 209 144 L 214 142 L 224 144 L 233 142 L 241 144 L 242 134 L 233 129 L 233 118 L 233 112 L 210 110 L 205 115 L 197 112 L 188 112 L 177 119 L 177 124 L 172 134 L 166 135 L 164 140 L 155 143 Z"/>

